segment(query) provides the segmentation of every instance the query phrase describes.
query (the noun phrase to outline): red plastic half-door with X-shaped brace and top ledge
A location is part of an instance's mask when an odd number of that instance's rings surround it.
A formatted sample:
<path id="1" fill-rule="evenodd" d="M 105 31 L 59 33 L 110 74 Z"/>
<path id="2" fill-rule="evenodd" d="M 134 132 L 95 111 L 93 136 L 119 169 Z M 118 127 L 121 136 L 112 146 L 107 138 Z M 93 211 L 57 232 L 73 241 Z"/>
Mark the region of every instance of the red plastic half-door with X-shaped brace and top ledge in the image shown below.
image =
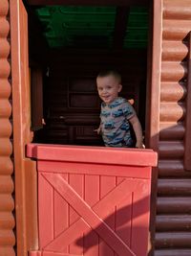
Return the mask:
<path id="1" fill-rule="evenodd" d="M 31 256 L 147 255 L 153 151 L 31 145 L 28 155 L 38 161 Z"/>

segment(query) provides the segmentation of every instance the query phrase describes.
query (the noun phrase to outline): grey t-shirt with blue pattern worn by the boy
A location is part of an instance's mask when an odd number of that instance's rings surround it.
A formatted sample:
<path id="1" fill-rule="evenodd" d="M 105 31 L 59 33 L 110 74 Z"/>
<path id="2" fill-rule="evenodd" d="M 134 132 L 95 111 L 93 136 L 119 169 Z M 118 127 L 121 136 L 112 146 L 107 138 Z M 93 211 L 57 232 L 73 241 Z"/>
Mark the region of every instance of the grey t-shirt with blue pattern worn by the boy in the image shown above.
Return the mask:
<path id="1" fill-rule="evenodd" d="M 132 147 L 129 119 L 136 114 L 132 105 L 118 97 L 111 104 L 101 104 L 100 128 L 105 146 Z"/>

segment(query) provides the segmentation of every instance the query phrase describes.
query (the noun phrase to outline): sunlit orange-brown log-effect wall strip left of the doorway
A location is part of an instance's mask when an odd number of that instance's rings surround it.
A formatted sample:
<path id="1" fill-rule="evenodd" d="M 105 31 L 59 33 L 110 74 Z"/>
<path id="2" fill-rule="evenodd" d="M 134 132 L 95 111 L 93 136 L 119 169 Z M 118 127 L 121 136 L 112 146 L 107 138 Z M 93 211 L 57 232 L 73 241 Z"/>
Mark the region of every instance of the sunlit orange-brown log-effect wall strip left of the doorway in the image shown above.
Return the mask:
<path id="1" fill-rule="evenodd" d="M 11 162 L 11 64 L 9 2 L 0 4 L 0 255 L 15 255 L 14 200 Z"/>

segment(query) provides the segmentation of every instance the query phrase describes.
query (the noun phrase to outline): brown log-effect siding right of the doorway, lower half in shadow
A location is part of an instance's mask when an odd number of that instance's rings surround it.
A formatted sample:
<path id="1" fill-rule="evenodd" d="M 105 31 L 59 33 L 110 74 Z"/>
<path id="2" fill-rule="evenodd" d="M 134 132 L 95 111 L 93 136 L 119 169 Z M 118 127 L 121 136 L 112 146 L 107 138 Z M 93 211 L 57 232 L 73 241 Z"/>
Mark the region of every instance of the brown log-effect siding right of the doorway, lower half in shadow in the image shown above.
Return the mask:
<path id="1" fill-rule="evenodd" d="M 190 178 L 184 169 L 191 2 L 163 0 L 155 256 L 191 255 Z"/>

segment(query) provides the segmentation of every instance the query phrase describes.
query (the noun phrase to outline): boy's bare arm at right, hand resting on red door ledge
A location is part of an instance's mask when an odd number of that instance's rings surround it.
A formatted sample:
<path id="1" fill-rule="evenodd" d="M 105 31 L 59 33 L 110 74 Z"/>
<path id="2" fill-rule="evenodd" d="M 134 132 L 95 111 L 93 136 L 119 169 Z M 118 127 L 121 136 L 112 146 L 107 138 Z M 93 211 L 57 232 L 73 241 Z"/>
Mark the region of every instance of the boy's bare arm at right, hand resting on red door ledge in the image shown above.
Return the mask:
<path id="1" fill-rule="evenodd" d="M 142 128 L 140 126 L 140 123 L 138 121 L 138 116 L 134 115 L 129 119 L 129 122 L 132 124 L 135 134 L 136 134 L 136 148 L 138 149 L 144 149 L 144 145 L 142 143 Z"/>

